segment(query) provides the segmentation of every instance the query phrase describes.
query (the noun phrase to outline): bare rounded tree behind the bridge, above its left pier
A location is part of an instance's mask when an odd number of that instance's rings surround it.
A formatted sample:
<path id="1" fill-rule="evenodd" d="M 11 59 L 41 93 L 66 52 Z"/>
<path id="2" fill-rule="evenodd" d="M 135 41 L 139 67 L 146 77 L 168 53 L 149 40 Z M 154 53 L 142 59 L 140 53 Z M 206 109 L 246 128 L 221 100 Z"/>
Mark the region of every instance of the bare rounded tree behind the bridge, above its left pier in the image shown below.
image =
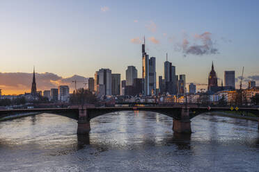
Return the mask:
<path id="1" fill-rule="evenodd" d="M 97 98 L 95 94 L 90 92 L 88 89 L 79 88 L 70 96 L 70 103 L 72 105 L 82 106 L 84 106 L 85 103 L 95 104 L 97 103 Z"/>

